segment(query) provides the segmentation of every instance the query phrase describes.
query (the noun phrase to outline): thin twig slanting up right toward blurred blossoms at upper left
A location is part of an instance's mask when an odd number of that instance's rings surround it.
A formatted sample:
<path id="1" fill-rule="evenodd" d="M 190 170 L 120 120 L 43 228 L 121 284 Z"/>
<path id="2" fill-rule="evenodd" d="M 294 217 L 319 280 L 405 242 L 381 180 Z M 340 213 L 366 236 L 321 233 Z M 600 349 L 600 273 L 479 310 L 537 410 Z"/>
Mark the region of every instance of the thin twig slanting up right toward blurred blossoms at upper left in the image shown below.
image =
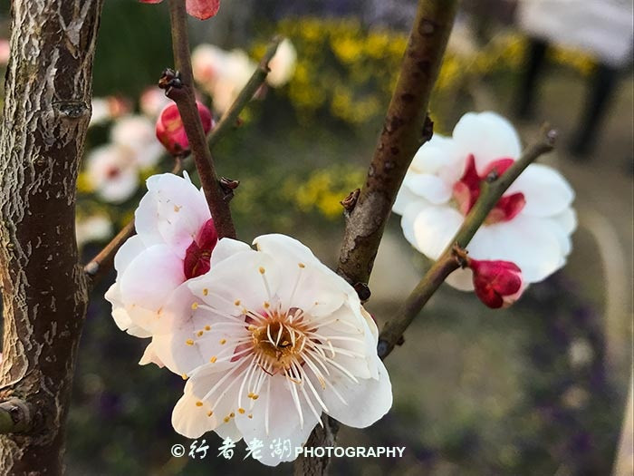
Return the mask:
<path id="1" fill-rule="evenodd" d="M 251 102 L 255 92 L 257 92 L 264 84 L 264 81 L 266 80 L 266 75 L 270 71 L 269 63 L 274 57 L 275 52 L 277 52 L 277 47 L 280 45 L 282 40 L 282 36 L 275 36 L 271 40 L 271 42 L 268 44 L 268 47 L 266 48 L 266 53 L 264 53 L 262 60 L 260 60 L 260 63 L 258 63 L 257 68 L 255 69 L 255 72 L 251 75 L 248 83 L 245 84 L 245 87 L 238 94 L 237 98 L 235 98 L 235 101 L 233 102 L 233 104 L 231 104 L 231 107 L 226 110 L 220 121 L 218 121 L 218 123 L 216 124 L 216 127 L 214 127 L 213 131 L 211 131 L 211 134 L 209 134 L 207 143 L 209 144 L 209 147 L 211 149 L 214 148 L 218 139 L 226 131 L 235 126 L 240 112 L 245 109 L 245 105 Z"/>

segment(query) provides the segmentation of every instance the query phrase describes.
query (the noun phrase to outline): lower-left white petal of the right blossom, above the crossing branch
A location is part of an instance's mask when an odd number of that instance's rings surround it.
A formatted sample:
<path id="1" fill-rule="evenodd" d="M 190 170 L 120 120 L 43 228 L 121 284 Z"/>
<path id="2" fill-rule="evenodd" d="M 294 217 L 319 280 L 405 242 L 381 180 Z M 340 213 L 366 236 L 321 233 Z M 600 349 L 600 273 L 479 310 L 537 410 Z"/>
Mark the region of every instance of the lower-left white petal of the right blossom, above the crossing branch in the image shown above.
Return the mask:
<path id="1" fill-rule="evenodd" d="M 449 206 L 422 209 L 412 225 L 416 248 L 431 259 L 437 259 L 456 236 L 463 216 Z"/>

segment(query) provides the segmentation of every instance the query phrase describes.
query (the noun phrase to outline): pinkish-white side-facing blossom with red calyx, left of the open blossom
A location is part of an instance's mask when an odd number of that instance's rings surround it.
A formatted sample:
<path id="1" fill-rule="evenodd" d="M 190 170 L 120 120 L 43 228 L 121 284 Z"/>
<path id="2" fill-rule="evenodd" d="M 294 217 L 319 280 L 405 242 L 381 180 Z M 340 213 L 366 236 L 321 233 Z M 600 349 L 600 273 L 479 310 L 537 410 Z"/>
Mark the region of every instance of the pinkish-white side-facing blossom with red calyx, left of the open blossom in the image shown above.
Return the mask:
<path id="1" fill-rule="evenodd" d="M 202 190 L 171 173 L 153 175 L 135 211 L 137 235 L 114 257 L 117 279 L 106 293 L 121 330 L 149 337 L 168 332 L 172 295 L 209 269 L 217 235 Z"/>

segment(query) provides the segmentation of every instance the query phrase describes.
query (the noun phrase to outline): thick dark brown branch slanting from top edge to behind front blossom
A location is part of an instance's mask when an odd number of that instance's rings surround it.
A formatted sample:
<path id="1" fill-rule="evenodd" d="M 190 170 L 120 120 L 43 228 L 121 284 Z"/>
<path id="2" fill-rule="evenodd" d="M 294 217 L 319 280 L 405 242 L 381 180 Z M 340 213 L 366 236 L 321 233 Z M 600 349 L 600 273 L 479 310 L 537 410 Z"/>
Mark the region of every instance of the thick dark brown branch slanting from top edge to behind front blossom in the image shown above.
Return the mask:
<path id="1" fill-rule="evenodd" d="M 420 0 L 399 81 L 357 204 L 350 213 L 339 273 L 367 284 L 383 229 L 414 154 L 431 137 L 427 105 L 456 15 L 456 0 Z"/>

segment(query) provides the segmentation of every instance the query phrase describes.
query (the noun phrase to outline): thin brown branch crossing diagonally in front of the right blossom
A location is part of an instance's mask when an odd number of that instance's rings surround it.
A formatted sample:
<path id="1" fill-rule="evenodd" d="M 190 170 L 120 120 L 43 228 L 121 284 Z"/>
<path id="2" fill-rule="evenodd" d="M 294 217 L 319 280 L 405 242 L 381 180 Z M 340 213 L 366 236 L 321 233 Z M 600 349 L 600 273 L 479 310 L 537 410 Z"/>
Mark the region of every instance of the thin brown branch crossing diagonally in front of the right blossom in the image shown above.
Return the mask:
<path id="1" fill-rule="evenodd" d="M 485 222 L 489 212 L 494 209 L 497 201 L 506 189 L 534 160 L 542 154 L 552 151 L 556 134 L 548 131 L 543 139 L 527 147 L 518 160 L 504 172 L 501 177 L 490 176 L 483 183 L 483 190 L 474 208 L 466 215 L 465 222 L 452 239 L 437 262 L 427 271 L 417 287 L 409 294 L 405 304 L 400 307 L 397 315 L 389 321 L 379 335 L 379 357 L 384 359 L 398 345 L 408 325 L 414 320 L 427 301 L 437 291 L 437 288 L 461 265 L 460 250 L 474 238 L 478 228 Z"/>

